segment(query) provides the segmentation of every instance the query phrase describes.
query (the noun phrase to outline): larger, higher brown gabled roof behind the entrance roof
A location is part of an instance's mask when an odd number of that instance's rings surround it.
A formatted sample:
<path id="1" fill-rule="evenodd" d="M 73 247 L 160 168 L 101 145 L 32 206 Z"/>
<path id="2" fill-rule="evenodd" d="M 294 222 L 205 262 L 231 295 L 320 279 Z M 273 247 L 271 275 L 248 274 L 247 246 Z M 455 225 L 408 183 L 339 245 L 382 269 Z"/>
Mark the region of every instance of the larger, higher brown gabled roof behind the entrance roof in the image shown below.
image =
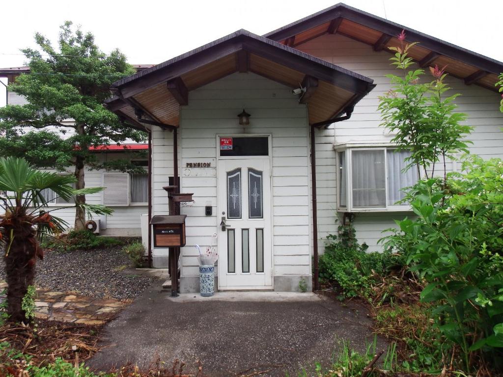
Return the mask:
<path id="1" fill-rule="evenodd" d="M 396 36 L 405 30 L 407 42 L 419 42 L 409 50 L 409 56 L 421 66 L 440 67 L 464 79 L 496 90 L 497 75 L 503 72 L 503 62 L 477 54 L 438 38 L 412 30 L 370 13 L 339 3 L 264 35 L 282 44 L 298 46 L 323 34 L 338 33 L 374 47 L 375 51 L 400 46 Z"/>

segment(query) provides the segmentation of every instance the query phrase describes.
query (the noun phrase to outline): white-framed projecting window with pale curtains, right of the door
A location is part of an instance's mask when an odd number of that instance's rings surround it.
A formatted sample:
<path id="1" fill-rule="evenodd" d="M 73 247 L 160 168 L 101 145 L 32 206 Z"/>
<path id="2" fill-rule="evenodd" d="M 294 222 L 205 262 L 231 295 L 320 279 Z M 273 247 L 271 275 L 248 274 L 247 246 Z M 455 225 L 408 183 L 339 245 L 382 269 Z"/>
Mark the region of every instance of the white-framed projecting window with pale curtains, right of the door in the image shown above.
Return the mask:
<path id="1" fill-rule="evenodd" d="M 405 169 L 409 151 L 395 148 L 348 148 L 338 152 L 338 207 L 344 211 L 406 210 L 403 189 L 418 180 Z"/>

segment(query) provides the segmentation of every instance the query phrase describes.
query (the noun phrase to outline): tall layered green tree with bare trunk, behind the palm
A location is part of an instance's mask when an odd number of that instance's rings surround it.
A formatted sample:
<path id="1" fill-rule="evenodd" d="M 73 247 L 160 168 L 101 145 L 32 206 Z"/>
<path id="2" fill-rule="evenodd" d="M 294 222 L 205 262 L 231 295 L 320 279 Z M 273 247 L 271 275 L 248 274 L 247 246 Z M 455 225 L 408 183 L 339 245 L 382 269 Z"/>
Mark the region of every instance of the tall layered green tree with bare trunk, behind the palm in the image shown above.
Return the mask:
<path id="1" fill-rule="evenodd" d="M 114 81 L 135 71 L 119 50 L 104 54 L 91 33 L 72 30 L 71 22 L 60 27 L 58 46 L 36 34 L 40 51 L 22 50 L 29 60 L 30 73 L 9 85 L 23 95 L 28 105 L 0 109 L 0 147 L 3 156 L 26 157 L 34 166 L 65 170 L 74 166 L 76 189 L 85 187 L 85 168 L 108 168 L 90 147 L 120 144 L 130 139 L 144 141 L 144 133 L 121 122 L 103 102 L 110 97 Z M 73 120 L 73 121 L 71 121 Z M 126 171 L 141 168 L 115 163 Z M 75 198 L 76 230 L 86 223 L 85 194 Z"/>

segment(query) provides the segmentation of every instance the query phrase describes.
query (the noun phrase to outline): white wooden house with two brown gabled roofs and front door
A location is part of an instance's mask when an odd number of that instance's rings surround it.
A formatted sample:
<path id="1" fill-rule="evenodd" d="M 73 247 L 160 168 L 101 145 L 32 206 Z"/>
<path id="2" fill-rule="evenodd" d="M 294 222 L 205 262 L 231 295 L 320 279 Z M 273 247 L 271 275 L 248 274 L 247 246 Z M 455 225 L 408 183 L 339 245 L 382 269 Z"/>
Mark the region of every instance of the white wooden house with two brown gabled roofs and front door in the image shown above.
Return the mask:
<path id="1" fill-rule="evenodd" d="M 181 292 L 198 290 L 195 245 L 218 248 L 220 290 L 310 285 L 323 240 L 345 219 L 381 249 L 382 231 L 409 213 L 395 205 L 400 188 L 417 179 L 400 174 L 405 155 L 392 153 L 377 110 L 393 73 L 388 47 L 403 29 L 420 42 L 410 50 L 419 66 L 447 65 L 475 128 L 471 151 L 503 157 L 494 88 L 503 63 L 344 4 L 264 37 L 238 31 L 113 85 L 109 108 L 151 130 L 151 215 L 169 213 L 163 187 L 177 176 L 179 192 L 193 193 L 180 209 Z M 169 249 L 150 251 L 167 264 Z"/>

